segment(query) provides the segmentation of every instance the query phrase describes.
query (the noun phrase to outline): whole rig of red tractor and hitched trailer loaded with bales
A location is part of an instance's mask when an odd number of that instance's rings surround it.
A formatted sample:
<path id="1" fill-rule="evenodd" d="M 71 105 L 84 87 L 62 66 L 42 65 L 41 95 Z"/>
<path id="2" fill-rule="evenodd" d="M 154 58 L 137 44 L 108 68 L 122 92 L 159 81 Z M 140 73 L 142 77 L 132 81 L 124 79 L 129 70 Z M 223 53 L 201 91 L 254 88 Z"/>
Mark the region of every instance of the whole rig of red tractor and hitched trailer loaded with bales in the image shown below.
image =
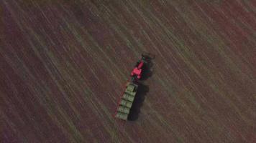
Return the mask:
<path id="1" fill-rule="evenodd" d="M 137 61 L 137 64 L 134 66 L 134 69 L 130 74 L 132 78 L 131 82 L 126 84 L 124 94 L 122 95 L 116 109 L 116 118 L 123 120 L 128 119 L 138 88 L 140 88 L 139 81 L 143 76 L 145 76 L 144 71 L 146 67 L 149 66 L 151 59 L 152 56 L 150 54 L 143 52 L 141 59 Z"/>

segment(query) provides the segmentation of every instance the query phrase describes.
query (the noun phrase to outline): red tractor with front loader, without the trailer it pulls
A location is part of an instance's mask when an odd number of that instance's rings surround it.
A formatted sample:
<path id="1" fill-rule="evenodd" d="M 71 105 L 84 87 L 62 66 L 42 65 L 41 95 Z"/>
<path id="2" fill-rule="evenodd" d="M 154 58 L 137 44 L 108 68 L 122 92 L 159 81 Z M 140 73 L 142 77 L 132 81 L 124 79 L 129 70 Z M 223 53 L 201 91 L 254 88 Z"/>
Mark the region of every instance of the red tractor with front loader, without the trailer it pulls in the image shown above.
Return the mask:
<path id="1" fill-rule="evenodd" d="M 149 66 L 148 64 L 150 64 L 150 59 L 152 59 L 152 55 L 146 52 L 142 53 L 142 58 L 139 61 L 137 61 L 137 64 L 132 70 L 132 82 L 137 82 L 138 79 L 142 78 L 143 70 L 145 69 L 146 66 Z"/>

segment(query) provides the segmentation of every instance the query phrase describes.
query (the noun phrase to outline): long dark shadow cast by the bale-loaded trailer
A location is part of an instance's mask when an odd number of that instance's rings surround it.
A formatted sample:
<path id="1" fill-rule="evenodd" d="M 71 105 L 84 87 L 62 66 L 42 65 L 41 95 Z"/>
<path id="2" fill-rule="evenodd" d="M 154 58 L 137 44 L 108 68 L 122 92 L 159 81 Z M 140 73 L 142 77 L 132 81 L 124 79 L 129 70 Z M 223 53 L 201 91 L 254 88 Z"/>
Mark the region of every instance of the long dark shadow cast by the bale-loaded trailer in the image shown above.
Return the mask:
<path id="1" fill-rule="evenodd" d="M 139 114 L 140 114 L 140 108 L 143 105 L 143 102 L 145 100 L 145 96 L 147 95 L 147 92 L 149 92 L 149 87 L 147 85 L 138 84 L 138 90 L 137 90 L 137 94 L 135 96 L 134 102 L 132 104 L 132 108 L 129 112 L 128 115 L 128 120 L 129 121 L 135 121 L 139 118 Z"/>

